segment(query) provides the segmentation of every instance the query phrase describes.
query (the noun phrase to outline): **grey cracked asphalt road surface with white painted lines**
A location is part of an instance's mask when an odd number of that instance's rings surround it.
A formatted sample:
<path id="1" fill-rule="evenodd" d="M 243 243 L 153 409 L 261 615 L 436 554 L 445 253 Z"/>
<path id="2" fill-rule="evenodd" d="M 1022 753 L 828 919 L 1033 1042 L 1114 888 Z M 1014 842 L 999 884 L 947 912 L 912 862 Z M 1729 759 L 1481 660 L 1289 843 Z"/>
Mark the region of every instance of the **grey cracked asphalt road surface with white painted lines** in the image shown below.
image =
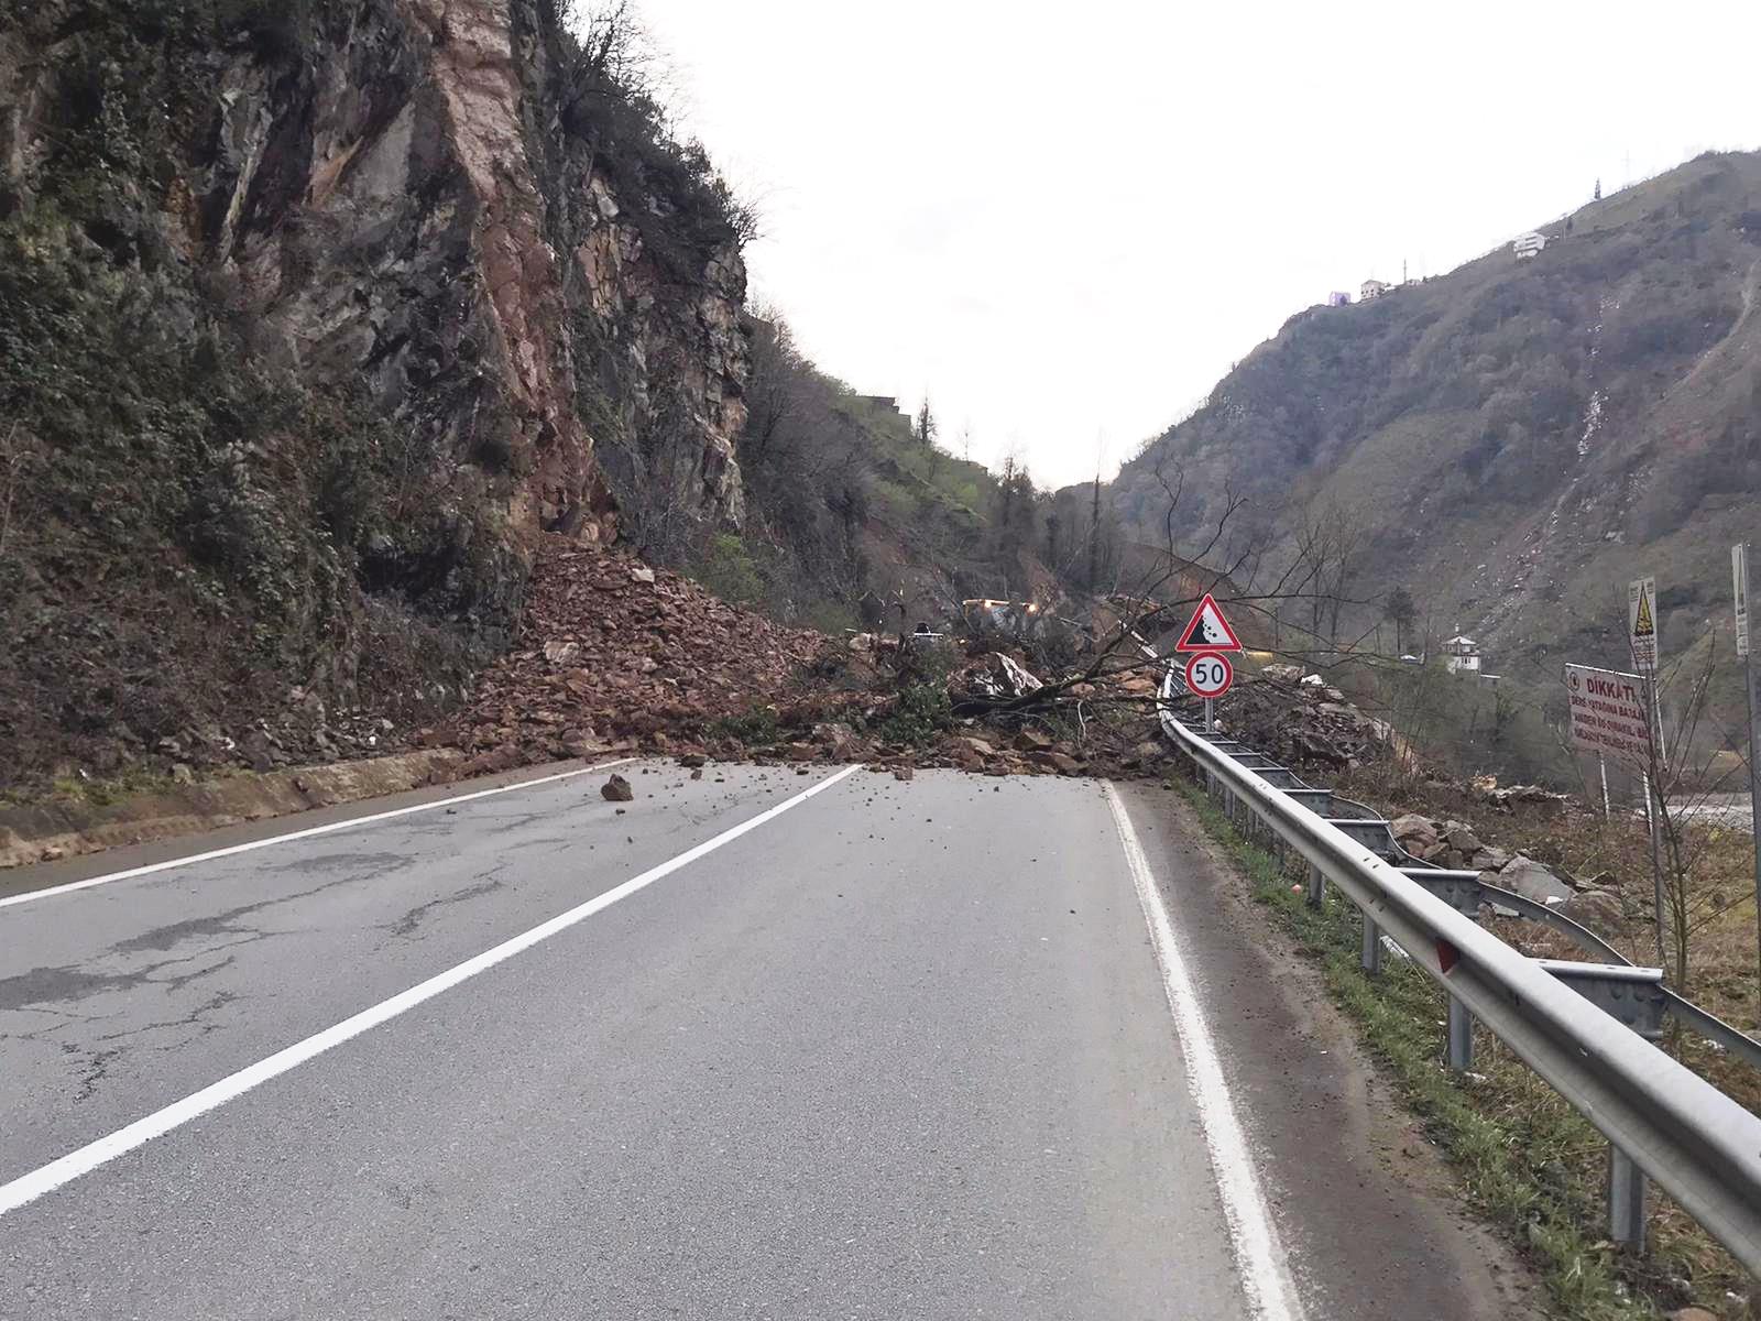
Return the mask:
<path id="1" fill-rule="evenodd" d="M 1168 796 L 620 770 L 0 907 L 0 1316 L 1513 1314 Z"/>

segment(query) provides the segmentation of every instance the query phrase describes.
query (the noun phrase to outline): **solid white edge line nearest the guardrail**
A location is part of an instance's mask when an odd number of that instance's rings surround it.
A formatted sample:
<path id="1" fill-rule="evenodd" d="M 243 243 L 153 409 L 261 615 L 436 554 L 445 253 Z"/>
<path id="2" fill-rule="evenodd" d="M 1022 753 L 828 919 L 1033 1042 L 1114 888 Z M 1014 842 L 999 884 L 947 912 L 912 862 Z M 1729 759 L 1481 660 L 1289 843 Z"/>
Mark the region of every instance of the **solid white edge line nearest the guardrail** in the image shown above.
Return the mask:
<path id="1" fill-rule="evenodd" d="M 1155 877 L 1150 874 L 1150 863 L 1143 856 L 1138 831 L 1132 830 L 1131 817 L 1125 815 L 1118 791 L 1111 784 L 1102 784 L 1102 791 L 1108 807 L 1113 808 L 1118 840 L 1125 849 L 1125 867 L 1131 868 L 1138 902 L 1143 905 L 1143 919 L 1150 925 L 1150 942 L 1155 946 L 1155 962 L 1162 969 L 1162 988 L 1168 992 L 1168 1007 L 1175 1016 L 1175 1032 L 1180 1036 L 1180 1050 L 1187 1062 L 1187 1087 L 1197 1106 L 1199 1124 L 1205 1127 L 1212 1173 L 1217 1177 L 1217 1194 L 1222 1201 L 1229 1245 L 1234 1249 L 1249 1310 L 1259 1321 L 1303 1321 L 1296 1282 L 1284 1265 L 1278 1229 L 1271 1222 L 1271 1210 L 1259 1187 L 1259 1173 L 1254 1170 L 1254 1157 L 1247 1148 L 1247 1134 L 1236 1118 L 1229 1081 L 1224 1078 L 1217 1046 L 1205 1025 L 1205 1013 L 1199 1009 L 1192 979 L 1187 976 L 1185 960 L 1180 956 L 1180 944 L 1175 941 L 1175 926 L 1162 904 L 1162 891 L 1157 889 Z"/>

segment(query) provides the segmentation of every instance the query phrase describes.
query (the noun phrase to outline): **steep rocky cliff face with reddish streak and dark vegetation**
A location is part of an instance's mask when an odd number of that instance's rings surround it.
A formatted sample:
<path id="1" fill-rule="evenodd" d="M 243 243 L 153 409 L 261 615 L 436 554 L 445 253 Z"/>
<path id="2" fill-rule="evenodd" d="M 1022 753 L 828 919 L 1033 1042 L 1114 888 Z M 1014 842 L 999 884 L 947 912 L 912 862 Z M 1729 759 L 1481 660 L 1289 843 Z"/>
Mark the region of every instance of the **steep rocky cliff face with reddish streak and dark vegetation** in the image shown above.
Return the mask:
<path id="1" fill-rule="evenodd" d="M 555 11 L 0 0 L 0 745 L 428 692 L 541 530 L 740 521 L 726 190 Z"/>

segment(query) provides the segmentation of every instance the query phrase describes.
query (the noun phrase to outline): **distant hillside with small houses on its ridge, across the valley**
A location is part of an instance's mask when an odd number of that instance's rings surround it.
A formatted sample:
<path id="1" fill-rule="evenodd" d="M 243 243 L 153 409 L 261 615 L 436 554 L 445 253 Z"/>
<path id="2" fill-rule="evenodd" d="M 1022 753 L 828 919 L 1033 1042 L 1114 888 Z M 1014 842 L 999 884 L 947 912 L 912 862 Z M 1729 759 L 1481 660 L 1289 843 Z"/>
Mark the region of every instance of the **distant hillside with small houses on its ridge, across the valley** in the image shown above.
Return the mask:
<path id="1" fill-rule="evenodd" d="M 1655 572 L 1680 648 L 1728 616 L 1728 546 L 1756 532 L 1761 157 L 1699 157 L 1543 232 L 1532 261 L 1502 243 L 1298 314 L 1125 465 L 1116 507 L 1160 544 L 1155 472 L 1182 470 L 1189 539 L 1233 490 L 1273 560 L 1305 516 L 1344 516 L 1352 595 L 1404 585 L 1511 673 L 1620 660 L 1617 592 Z"/>

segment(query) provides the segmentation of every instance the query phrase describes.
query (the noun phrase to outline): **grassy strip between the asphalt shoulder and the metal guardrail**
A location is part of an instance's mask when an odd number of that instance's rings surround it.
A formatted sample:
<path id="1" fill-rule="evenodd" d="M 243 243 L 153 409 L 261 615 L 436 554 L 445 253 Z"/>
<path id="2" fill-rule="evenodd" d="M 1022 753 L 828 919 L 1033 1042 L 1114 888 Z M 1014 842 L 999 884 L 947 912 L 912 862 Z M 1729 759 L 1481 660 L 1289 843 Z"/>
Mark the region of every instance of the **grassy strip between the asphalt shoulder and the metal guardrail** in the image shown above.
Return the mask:
<path id="1" fill-rule="evenodd" d="M 1536 1265 L 1557 1316 L 1657 1317 L 1696 1303 L 1743 1316 L 1742 1268 L 1655 1189 L 1648 1252 L 1608 1242 L 1601 1134 L 1485 1029 L 1476 1032 L 1474 1069 L 1453 1076 L 1442 1064 L 1442 988 L 1404 960 L 1365 976 L 1358 911 L 1337 895 L 1308 907 L 1293 893 L 1298 874 L 1242 838 L 1196 784 L 1175 784 L 1254 900 L 1317 962 L 1333 999 L 1453 1164 L 1465 1199 Z"/>

